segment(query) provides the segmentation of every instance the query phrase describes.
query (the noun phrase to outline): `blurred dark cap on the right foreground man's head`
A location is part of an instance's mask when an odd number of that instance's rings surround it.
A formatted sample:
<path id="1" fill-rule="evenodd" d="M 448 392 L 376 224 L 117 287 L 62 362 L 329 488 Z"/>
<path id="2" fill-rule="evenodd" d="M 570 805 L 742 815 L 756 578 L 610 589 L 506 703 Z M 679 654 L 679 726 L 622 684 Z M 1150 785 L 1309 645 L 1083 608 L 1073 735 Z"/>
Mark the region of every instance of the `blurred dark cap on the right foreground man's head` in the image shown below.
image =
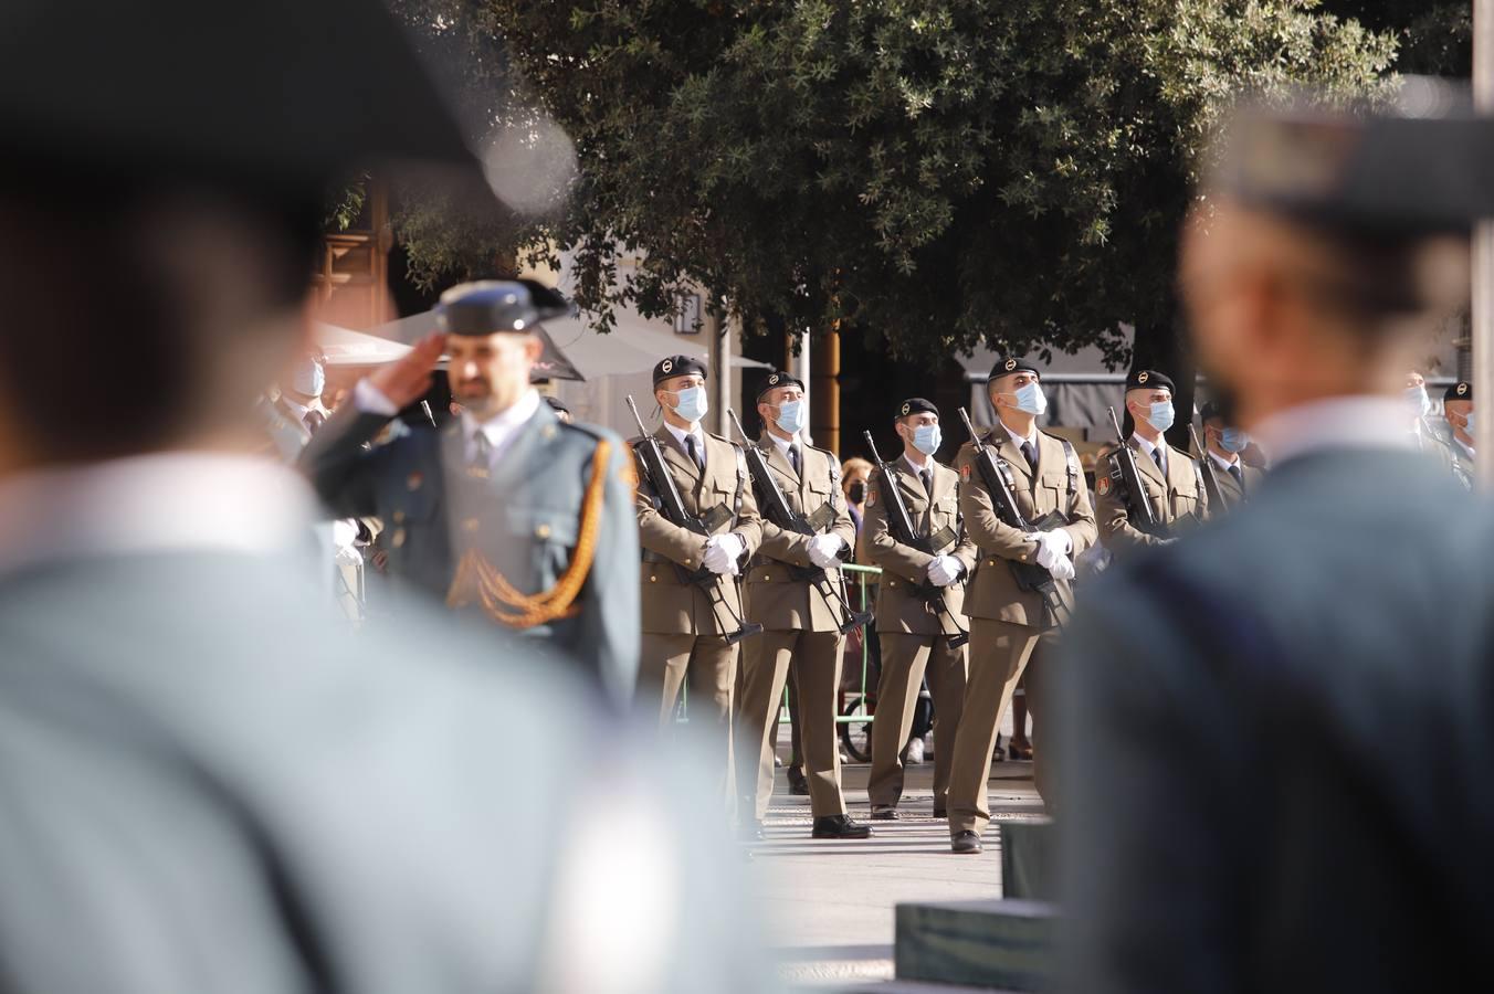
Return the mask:
<path id="1" fill-rule="evenodd" d="M 1318 227 L 1416 236 L 1494 215 L 1494 125 L 1439 81 L 1407 79 L 1374 113 L 1246 110 L 1224 148 L 1221 193 Z"/>

